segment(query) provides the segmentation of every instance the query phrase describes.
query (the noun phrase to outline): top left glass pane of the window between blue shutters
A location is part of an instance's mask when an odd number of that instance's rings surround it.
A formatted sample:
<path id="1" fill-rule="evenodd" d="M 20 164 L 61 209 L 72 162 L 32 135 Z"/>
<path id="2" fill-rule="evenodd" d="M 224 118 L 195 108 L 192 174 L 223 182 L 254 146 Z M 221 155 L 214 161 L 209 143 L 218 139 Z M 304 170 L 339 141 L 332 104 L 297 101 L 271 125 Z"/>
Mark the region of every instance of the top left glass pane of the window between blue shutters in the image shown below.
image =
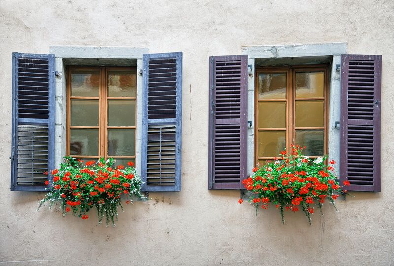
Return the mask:
<path id="1" fill-rule="evenodd" d="M 71 72 L 71 96 L 99 97 L 99 85 L 98 70 Z"/>

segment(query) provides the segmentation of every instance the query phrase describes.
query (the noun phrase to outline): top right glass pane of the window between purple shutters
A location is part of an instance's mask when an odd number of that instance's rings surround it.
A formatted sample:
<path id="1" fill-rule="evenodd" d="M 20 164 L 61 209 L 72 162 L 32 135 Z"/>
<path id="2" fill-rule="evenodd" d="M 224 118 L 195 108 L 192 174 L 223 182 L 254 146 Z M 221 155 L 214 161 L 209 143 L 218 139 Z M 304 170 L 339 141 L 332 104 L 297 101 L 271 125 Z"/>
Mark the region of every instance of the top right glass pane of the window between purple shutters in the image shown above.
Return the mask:
<path id="1" fill-rule="evenodd" d="M 296 97 L 323 97 L 324 72 L 297 72 Z"/>

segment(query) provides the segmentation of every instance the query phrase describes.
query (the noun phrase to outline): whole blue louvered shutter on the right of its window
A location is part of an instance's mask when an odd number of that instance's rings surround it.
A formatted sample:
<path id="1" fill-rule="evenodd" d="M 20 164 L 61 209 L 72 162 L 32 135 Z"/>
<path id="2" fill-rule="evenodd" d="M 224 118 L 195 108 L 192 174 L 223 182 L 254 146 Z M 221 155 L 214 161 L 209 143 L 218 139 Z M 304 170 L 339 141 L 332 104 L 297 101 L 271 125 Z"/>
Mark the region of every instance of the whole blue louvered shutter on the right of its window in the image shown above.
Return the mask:
<path id="1" fill-rule="evenodd" d="M 142 191 L 181 191 L 182 52 L 144 54 Z"/>

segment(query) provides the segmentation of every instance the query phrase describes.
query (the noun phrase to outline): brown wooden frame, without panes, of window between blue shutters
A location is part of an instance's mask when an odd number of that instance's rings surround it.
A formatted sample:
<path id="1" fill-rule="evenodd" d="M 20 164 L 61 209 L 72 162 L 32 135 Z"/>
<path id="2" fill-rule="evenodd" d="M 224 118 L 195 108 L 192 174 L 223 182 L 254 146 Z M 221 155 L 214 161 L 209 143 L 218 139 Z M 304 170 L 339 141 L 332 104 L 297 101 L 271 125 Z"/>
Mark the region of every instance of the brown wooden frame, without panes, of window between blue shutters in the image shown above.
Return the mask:
<path id="1" fill-rule="evenodd" d="M 97 70 L 99 71 L 99 96 L 98 97 L 85 97 L 85 96 L 71 96 L 71 72 L 74 70 Z M 74 158 L 130 158 L 136 160 L 137 152 L 137 78 L 135 78 L 135 96 L 132 97 L 114 97 L 108 96 L 108 72 L 109 71 L 131 71 L 137 74 L 136 67 L 96 67 L 96 66 L 68 66 L 67 67 L 67 130 L 66 130 L 66 155 Z M 99 100 L 99 126 L 71 126 L 71 99 L 84 99 L 84 100 Z M 111 99 L 125 99 L 135 100 L 135 125 L 134 126 L 108 126 L 108 100 Z M 99 129 L 99 155 L 70 155 L 71 153 L 71 129 Z M 135 139 L 134 147 L 135 152 L 133 156 L 114 155 L 108 156 L 108 129 L 134 129 Z"/>

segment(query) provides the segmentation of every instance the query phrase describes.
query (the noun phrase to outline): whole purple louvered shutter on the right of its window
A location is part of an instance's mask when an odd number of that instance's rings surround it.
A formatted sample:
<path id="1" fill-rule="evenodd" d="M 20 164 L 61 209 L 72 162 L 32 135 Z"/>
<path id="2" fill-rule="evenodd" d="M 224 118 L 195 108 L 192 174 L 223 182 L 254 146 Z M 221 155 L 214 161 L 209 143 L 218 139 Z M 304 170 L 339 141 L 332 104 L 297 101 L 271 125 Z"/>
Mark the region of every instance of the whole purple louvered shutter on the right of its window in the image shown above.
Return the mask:
<path id="1" fill-rule="evenodd" d="M 381 55 L 342 55 L 341 175 L 351 191 L 380 191 Z"/>

